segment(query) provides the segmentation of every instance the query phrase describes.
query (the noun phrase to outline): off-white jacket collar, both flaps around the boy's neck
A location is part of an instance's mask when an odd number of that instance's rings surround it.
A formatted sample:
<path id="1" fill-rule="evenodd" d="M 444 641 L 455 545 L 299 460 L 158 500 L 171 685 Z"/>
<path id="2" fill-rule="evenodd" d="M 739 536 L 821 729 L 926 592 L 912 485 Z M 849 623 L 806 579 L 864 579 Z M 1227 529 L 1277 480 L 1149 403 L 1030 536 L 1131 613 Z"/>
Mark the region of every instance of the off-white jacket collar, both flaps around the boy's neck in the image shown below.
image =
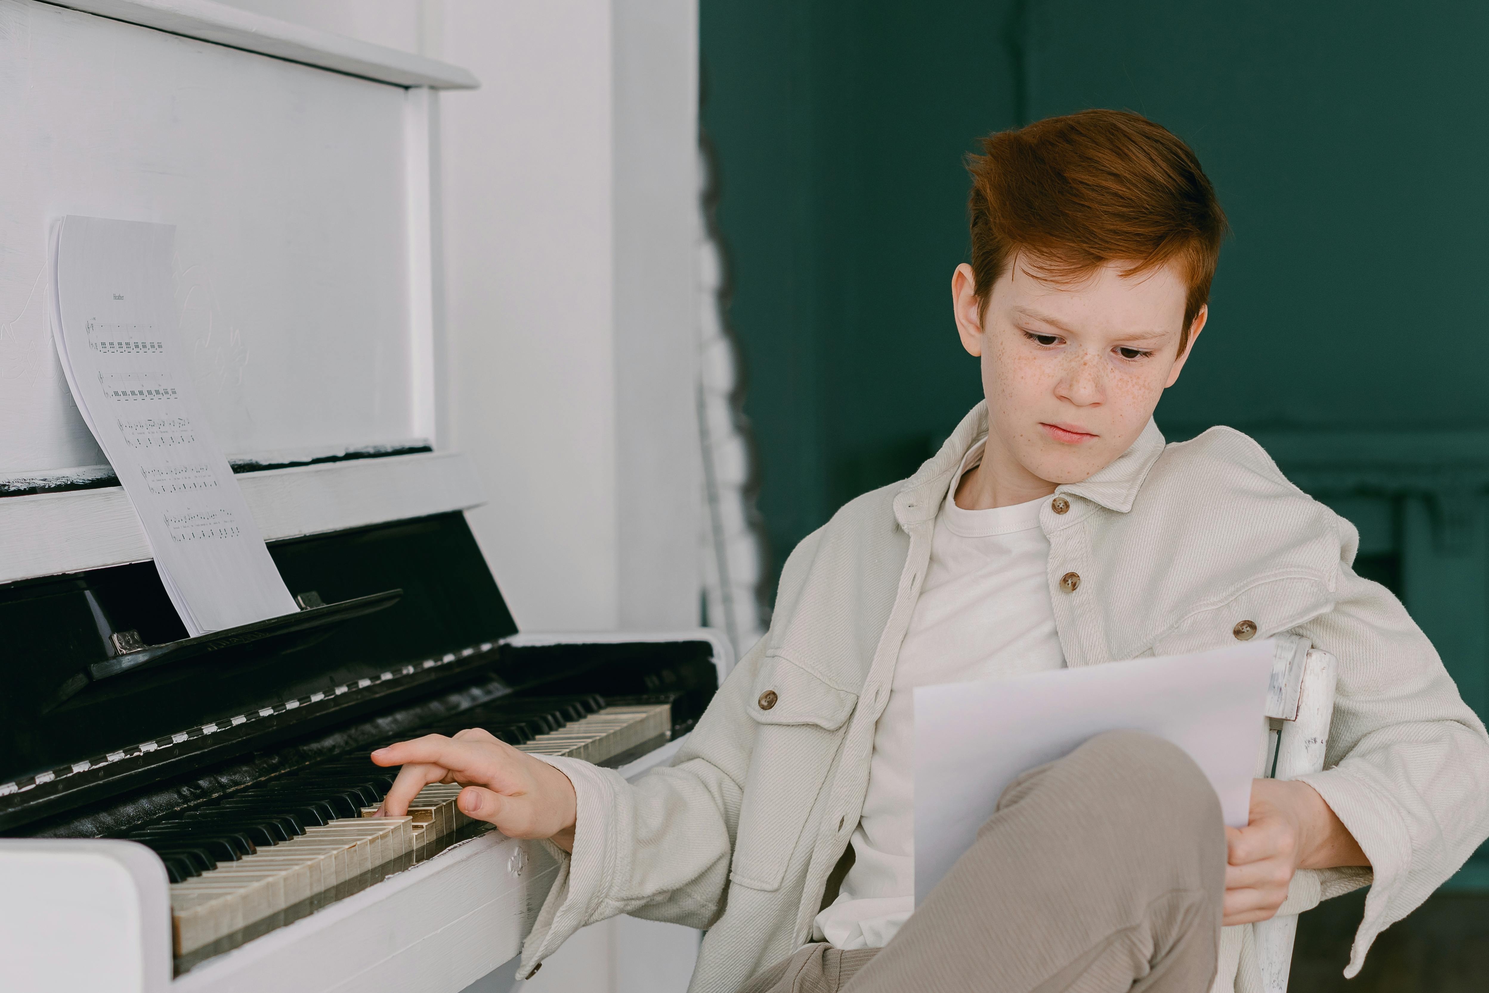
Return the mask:
<path id="1" fill-rule="evenodd" d="M 956 426 L 951 436 L 941 445 L 941 451 L 931 456 L 916 475 L 905 479 L 899 493 L 895 494 L 895 518 L 901 527 L 934 520 L 946 499 L 947 487 L 951 485 L 951 473 L 962 464 L 968 450 L 987 435 L 987 402 L 974 406 L 962 423 Z M 1163 432 L 1150 417 L 1148 426 L 1138 435 L 1138 441 L 1117 457 L 1105 469 L 1093 473 L 1081 482 L 1071 482 L 1056 488 L 1056 493 L 1068 493 L 1083 497 L 1118 514 L 1132 509 L 1138 499 L 1138 490 L 1148 476 L 1148 470 L 1163 454 Z"/>

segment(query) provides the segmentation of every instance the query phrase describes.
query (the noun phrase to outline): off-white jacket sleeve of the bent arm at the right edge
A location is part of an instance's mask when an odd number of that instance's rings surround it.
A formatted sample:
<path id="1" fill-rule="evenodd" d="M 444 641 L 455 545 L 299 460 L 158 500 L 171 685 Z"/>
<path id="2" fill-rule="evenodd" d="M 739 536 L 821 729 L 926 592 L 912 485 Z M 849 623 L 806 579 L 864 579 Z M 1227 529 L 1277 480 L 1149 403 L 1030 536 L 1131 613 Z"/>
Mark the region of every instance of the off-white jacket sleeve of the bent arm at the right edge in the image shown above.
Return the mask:
<path id="1" fill-rule="evenodd" d="M 1371 863 L 1319 872 L 1324 898 L 1371 884 L 1345 969 L 1354 977 L 1376 935 L 1489 835 L 1489 737 L 1406 607 L 1348 564 L 1334 609 L 1300 633 L 1339 660 L 1324 771 L 1300 779 Z"/>

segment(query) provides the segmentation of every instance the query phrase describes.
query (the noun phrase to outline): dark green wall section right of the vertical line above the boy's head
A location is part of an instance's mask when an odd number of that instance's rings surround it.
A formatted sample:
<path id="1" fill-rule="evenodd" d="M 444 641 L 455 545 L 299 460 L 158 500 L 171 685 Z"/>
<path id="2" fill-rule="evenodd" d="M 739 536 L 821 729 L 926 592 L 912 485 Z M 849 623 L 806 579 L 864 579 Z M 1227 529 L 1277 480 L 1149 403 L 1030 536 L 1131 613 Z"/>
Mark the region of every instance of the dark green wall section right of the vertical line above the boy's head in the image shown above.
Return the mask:
<path id="1" fill-rule="evenodd" d="M 1489 423 L 1489 4 L 1045 0 L 1026 39 L 1030 118 L 1145 113 L 1230 213 L 1160 424 Z"/>

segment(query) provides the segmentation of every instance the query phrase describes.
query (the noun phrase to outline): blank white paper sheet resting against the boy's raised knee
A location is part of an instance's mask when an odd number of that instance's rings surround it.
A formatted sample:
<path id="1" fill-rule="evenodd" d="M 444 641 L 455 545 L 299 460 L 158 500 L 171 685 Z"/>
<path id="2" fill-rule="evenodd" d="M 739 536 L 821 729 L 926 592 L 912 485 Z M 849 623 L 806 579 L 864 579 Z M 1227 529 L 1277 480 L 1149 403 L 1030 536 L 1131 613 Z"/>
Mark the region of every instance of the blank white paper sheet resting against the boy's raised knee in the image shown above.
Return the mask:
<path id="1" fill-rule="evenodd" d="M 1103 731 L 1188 752 L 1242 828 L 1266 735 L 1273 642 L 916 689 L 916 905 L 1021 773 Z"/>

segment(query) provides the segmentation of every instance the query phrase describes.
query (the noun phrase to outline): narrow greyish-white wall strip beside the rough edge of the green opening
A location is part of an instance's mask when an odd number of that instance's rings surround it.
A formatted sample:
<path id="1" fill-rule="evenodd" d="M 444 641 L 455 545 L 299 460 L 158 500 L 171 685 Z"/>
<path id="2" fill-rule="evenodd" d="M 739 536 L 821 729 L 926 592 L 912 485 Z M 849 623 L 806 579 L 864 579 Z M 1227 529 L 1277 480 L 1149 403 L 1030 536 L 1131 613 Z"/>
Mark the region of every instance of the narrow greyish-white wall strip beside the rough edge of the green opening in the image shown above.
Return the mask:
<path id="1" fill-rule="evenodd" d="M 697 624 L 698 4 L 612 6 L 619 627 Z"/>

